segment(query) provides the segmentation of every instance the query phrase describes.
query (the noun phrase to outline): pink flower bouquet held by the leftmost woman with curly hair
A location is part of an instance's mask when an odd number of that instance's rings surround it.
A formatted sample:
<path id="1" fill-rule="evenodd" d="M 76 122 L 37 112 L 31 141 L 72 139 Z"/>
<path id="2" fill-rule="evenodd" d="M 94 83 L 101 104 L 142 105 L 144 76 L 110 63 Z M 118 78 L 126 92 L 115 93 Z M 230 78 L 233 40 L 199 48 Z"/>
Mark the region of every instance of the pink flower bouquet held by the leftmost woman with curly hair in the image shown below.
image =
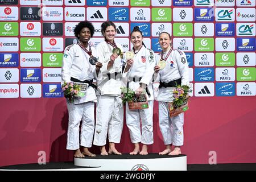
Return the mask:
<path id="1" fill-rule="evenodd" d="M 80 91 L 80 86 L 73 82 L 64 82 L 64 84 L 61 85 L 61 88 L 63 90 L 64 97 L 68 98 L 69 102 L 74 102 L 75 97 L 77 97 Z"/>

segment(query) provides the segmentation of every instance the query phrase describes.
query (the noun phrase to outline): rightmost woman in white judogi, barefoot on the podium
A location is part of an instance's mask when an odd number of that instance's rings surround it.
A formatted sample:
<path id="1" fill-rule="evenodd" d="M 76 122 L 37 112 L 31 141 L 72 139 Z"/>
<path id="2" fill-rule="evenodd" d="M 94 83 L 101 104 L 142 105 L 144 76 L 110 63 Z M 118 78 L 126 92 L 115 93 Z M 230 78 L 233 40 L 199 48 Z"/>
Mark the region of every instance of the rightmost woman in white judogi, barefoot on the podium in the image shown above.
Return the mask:
<path id="1" fill-rule="evenodd" d="M 166 67 L 163 69 L 160 69 L 158 65 L 154 68 L 157 74 L 156 81 L 160 81 L 157 97 L 159 101 L 159 126 L 166 145 L 166 150 L 159 152 L 159 154 L 178 155 L 181 154 L 180 146 L 183 145 L 184 114 L 181 113 L 170 118 L 168 102 L 173 100 L 172 90 L 174 90 L 176 82 L 177 85 L 189 84 L 188 63 L 183 51 L 172 49 L 171 36 L 167 32 L 162 32 L 159 35 L 159 44 L 163 52 L 156 55 L 156 62 L 158 64 L 160 59 L 166 62 Z M 171 144 L 175 146 L 173 151 L 171 151 Z"/>

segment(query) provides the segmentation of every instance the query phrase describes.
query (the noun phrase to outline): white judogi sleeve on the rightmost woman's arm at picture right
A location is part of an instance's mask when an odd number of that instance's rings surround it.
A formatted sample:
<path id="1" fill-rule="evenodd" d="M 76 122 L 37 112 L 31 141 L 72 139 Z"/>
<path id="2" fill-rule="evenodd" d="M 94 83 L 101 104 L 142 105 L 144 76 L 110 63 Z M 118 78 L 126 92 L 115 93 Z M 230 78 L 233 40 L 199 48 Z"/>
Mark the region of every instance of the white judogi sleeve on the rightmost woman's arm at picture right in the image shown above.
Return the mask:
<path id="1" fill-rule="evenodd" d="M 189 69 L 186 55 L 183 51 L 176 50 L 176 61 L 181 76 L 181 85 L 189 84 Z"/>

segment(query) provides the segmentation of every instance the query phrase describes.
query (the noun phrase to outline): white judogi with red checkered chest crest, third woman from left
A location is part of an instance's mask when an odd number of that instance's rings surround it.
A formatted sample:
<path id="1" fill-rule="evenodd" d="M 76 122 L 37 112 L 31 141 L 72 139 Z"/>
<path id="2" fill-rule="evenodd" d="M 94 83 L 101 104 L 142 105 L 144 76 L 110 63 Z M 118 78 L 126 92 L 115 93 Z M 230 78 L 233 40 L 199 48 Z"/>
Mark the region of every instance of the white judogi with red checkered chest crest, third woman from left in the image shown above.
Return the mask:
<path id="1" fill-rule="evenodd" d="M 126 124 L 130 131 L 132 143 L 152 144 L 153 138 L 153 106 L 154 96 L 152 89 L 152 76 L 154 75 L 155 56 L 152 50 L 142 46 L 135 53 L 134 62 L 128 72 L 123 73 L 123 78 L 129 81 L 129 88 L 134 91 L 139 88 L 139 83 L 147 85 L 150 96 L 147 95 L 148 109 L 130 110 L 126 103 Z M 133 79 L 135 78 L 135 79 Z M 141 80 L 139 79 L 141 78 Z M 142 121 L 142 131 L 141 131 Z"/>

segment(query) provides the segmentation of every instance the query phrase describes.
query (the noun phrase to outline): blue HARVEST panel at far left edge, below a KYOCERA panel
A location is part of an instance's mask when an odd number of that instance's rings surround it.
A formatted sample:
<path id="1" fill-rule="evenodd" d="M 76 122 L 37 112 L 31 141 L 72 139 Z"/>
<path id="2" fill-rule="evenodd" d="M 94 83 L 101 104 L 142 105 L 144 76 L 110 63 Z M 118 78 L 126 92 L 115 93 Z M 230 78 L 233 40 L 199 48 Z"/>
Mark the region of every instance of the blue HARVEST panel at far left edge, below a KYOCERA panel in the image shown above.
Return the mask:
<path id="1" fill-rule="evenodd" d="M 18 67 L 18 53 L 0 53 L 0 67 Z"/>

